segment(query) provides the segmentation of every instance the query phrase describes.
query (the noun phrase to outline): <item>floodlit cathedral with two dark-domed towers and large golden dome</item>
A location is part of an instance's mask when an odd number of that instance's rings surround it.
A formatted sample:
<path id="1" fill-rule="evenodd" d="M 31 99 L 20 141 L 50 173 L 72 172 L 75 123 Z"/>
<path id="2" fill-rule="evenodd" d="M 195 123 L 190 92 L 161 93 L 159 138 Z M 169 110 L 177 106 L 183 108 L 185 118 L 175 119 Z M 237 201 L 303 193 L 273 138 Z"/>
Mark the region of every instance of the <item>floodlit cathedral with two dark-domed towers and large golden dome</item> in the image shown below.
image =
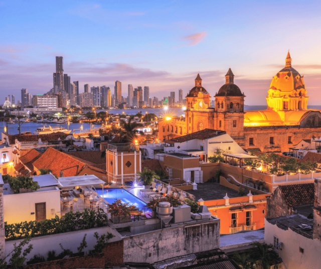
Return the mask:
<path id="1" fill-rule="evenodd" d="M 303 139 L 320 136 L 321 113 L 307 109 L 309 97 L 303 76 L 292 68 L 289 52 L 285 67 L 273 77 L 267 95 L 266 110 L 244 111 L 246 96 L 234 84 L 234 74 L 229 69 L 225 84 L 214 95 L 213 108 L 211 96 L 198 74 L 195 87 L 186 97 L 185 120 L 159 122 L 159 139 L 164 141 L 209 128 L 226 131 L 243 148 L 281 153 Z"/>

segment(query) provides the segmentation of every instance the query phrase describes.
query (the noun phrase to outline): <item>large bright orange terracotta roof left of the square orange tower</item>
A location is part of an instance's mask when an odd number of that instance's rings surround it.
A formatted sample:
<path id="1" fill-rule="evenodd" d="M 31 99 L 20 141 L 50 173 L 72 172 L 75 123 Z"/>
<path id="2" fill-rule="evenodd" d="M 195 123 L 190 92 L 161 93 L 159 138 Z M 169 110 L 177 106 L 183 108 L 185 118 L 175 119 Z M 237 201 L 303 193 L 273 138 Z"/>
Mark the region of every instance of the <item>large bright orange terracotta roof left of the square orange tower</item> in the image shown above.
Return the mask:
<path id="1" fill-rule="evenodd" d="M 49 147 L 42 156 L 33 163 L 39 169 L 50 169 L 56 176 L 60 176 L 60 171 L 64 171 L 64 176 L 76 176 L 86 165 L 69 154 Z"/>

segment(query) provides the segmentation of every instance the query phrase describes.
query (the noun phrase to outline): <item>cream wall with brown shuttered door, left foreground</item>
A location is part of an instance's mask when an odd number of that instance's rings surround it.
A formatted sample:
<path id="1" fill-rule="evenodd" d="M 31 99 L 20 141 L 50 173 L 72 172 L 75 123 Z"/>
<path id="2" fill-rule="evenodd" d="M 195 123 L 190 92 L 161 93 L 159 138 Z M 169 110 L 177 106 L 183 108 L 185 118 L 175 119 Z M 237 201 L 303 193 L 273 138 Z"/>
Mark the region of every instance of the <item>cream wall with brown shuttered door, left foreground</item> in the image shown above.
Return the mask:
<path id="1" fill-rule="evenodd" d="M 54 190 L 36 191 L 4 195 L 5 221 L 9 224 L 36 220 L 36 203 L 46 202 L 46 218 L 50 219 L 60 212 L 60 190 L 57 187 L 47 187 Z M 41 188 L 39 190 L 46 190 Z M 52 214 L 51 209 L 54 209 Z M 35 212 L 35 214 L 31 214 Z"/>

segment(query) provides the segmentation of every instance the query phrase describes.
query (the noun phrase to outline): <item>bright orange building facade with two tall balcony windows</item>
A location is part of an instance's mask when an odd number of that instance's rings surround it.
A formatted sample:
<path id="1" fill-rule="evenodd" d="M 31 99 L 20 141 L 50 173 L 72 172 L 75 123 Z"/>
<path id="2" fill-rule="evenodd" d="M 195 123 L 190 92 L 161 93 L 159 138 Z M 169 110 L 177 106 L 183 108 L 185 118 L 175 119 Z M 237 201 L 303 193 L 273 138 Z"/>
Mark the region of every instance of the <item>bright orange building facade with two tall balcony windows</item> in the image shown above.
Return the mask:
<path id="1" fill-rule="evenodd" d="M 252 195 L 224 199 L 199 201 L 206 205 L 212 215 L 218 217 L 220 233 L 235 233 L 241 230 L 264 228 L 266 197 L 270 194 Z"/>

